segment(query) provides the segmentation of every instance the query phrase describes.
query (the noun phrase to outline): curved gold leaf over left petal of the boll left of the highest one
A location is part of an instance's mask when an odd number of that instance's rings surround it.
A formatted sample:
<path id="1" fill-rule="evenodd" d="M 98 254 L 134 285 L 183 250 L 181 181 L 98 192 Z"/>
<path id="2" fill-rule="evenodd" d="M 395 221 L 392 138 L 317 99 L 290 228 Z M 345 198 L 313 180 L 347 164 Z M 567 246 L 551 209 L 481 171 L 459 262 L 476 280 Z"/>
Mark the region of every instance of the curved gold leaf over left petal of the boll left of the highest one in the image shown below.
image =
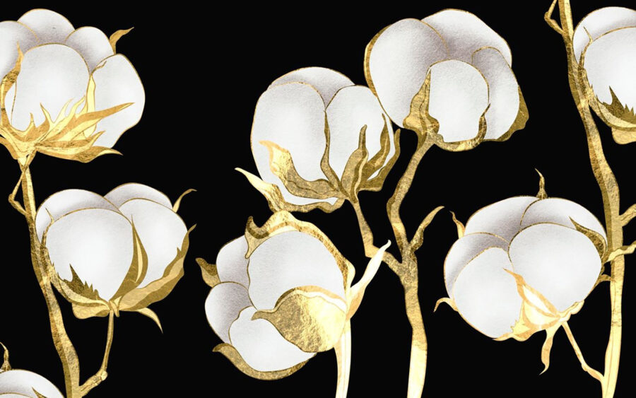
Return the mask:
<path id="1" fill-rule="evenodd" d="M 298 175 L 291 154 L 271 141 L 261 141 L 269 151 L 269 168 L 281 179 L 285 188 L 297 197 L 310 199 L 329 199 L 339 197 L 339 192 L 331 182 L 320 179 L 307 181 Z"/>

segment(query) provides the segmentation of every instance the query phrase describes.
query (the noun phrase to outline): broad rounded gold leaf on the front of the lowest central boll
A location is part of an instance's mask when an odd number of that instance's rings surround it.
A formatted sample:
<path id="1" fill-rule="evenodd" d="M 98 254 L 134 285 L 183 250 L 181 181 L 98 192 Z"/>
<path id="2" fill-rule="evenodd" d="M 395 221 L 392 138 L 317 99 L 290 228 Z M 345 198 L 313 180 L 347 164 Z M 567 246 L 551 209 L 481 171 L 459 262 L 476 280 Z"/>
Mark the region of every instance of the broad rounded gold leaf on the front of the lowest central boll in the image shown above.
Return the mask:
<path id="1" fill-rule="evenodd" d="M 346 322 L 346 303 L 316 286 L 293 288 L 281 295 L 273 310 L 257 311 L 252 320 L 267 320 L 285 340 L 305 352 L 334 348 Z"/>

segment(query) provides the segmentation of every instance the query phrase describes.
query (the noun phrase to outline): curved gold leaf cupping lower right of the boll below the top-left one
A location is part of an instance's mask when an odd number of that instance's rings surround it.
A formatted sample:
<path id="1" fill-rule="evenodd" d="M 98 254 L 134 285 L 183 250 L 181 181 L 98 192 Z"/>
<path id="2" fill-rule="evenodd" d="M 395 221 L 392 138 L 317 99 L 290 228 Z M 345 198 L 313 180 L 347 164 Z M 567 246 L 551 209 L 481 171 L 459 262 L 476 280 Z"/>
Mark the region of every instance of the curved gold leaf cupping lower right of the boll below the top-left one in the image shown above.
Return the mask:
<path id="1" fill-rule="evenodd" d="M 156 281 L 148 283 L 143 288 L 136 288 L 123 295 L 117 305 L 120 311 L 136 311 L 146 308 L 152 303 L 163 300 L 170 294 L 183 276 L 183 262 L 188 252 L 189 235 L 195 227 L 192 226 L 184 236 L 181 249 L 177 250 L 177 256 L 165 268 L 163 276 Z"/>

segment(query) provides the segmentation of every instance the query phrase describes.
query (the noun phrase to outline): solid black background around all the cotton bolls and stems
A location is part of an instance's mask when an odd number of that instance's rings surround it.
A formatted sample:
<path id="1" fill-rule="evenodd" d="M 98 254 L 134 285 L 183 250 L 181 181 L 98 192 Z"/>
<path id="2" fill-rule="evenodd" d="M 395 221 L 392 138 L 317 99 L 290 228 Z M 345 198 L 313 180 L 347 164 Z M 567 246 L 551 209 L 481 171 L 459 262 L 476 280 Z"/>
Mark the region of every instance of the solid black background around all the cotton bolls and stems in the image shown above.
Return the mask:
<path id="1" fill-rule="evenodd" d="M 478 5 L 477 5 L 478 3 Z M 321 353 L 302 370 L 275 382 L 243 375 L 213 346 L 220 339 L 208 326 L 204 300 L 209 288 L 201 279 L 196 257 L 213 262 L 219 248 L 240 235 L 248 216 L 257 223 L 270 212 L 266 202 L 233 169 L 255 172 L 249 148 L 254 105 L 273 79 L 302 66 L 326 66 L 364 84 L 363 54 L 367 42 L 384 26 L 401 18 L 423 18 L 442 8 L 462 8 L 480 16 L 512 48 L 513 69 L 528 103 L 526 129 L 505 143 L 485 143 L 473 151 L 450 153 L 432 148 L 420 164 L 402 214 L 409 231 L 435 206 L 443 204 L 466 219 L 494 201 L 536 194 L 538 177 L 546 176 L 548 194 L 586 206 L 599 218 L 602 204 L 591 173 L 584 129 L 567 84 L 561 38 L 543 22 L 550 1 L 390 1 L 343 8 L 298 3 L 254 8 L 242 2 L 207 4 L 184 1 L 170 6 L 135 8 L 132 3 L 95 6 L 4 4 L 1 19 L 17 19 L 35 7 L 48 7 L 76 26 L 95 25 L 105 33 L 135 29 L 119 41 L 139 71 L 146 89 L 141 122 L 117 142 L 124 156 L 103 156 L 81 164 L 38 156 L 32 165 L 38 204 L 61 189 L 84 188 L 105 194 L 124 182 L 142 182 L 163 190 L 173 200 L 196 188 L 182 203 L 191 235 L 185 276 L 160 303 L 151 305 L 163 322 L 163 334 L 146 317 L 122 313 L 115 322 L 109 376 L 93 397 L 181 397 L 251 394 L 276 397 L 331 397 L 336 387 L 333 351 Z M 631 1 L 573 1 L 575 21 L 595 8 L 630 6 Z M 507 4 L 503 6 L 501 4 Z M 514 5 L 512 5 L 514 4 Z M 608 160 L 623 197 L 622 208 L 636 201 L 632 186 L 636 144 L 619 146 L 599 123 Z M 360 195 L 375 232 L 376 243 L 394 240 L 385 204 L 413 152 L 414 134 L 405 131 L 403 155 L 379 193 Z M 0 192 L 8 194 L 19 176 L 8 153 L 0 156 Z M 63 390 L 63 375 L 52 344 L 45 301 L 30 265 L 28 231 L 23 218 L 0 206 L 4 239 L 0 341 L 11 351 L 14 368 L 26 368 L 52 380 Z M 298 217 L 317 224 L 363 273 L 367 259 L 351 206 L 325 214 Z M 456 240 L 448 211 L 442 211 L 425 233 L 419 252 L 420 300 L 429 341 L 424 397 L 600 397 L 599 382 L 584 373 L 563 331 L 555 336 L 548 372 L 541 364 L 543 332 L 529 341 L 497 342 L 472 329 L 447 306 L 432 312 L 447 293 L 443 262 Z M 625 242 L 636 238 L 625 229 Z M 394 250 L 395 247 L 391 247 Z M 622 371 L 616 397 L 635 386 L 628 369 L 635 365 L 634 296 L 628 259 L 623 312 Z M 105 344 L 105 318 L 77 320 L 59 298 L 66 327 L 81 359 L 82 380 L 95 373 Z M 589 295 L 570 326 L 587 361 L 602 370 L 610 305 L 608 285 Z M 367 288 L 353 318 L 353 365 L 350 397 L 404 397 L 408 377 L 410 327 L 401 285 L 382 266 Z"/>

